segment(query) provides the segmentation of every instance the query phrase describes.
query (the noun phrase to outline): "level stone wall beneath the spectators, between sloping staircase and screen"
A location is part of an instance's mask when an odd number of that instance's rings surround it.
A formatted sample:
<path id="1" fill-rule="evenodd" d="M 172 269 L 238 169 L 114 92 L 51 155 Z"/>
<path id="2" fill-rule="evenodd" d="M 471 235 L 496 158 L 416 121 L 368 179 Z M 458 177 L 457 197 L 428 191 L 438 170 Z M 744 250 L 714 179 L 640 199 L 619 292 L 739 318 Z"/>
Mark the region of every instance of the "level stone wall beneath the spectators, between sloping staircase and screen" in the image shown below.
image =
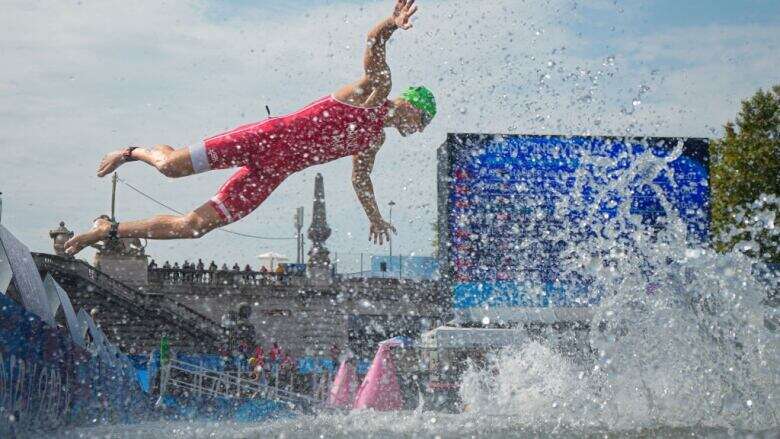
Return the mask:
<path id="1" fill-rule="evenodd" d="M 258 340 L 293 355 L 327 354 L 333 344 L 371 351 L 377 341 L 433 327 L 450 309 L 438 282 L 408 279 L 337 275 L 323 284 L 305 275 L 158 268 L 141 290 L 214 321 L 247 303 Z"/>

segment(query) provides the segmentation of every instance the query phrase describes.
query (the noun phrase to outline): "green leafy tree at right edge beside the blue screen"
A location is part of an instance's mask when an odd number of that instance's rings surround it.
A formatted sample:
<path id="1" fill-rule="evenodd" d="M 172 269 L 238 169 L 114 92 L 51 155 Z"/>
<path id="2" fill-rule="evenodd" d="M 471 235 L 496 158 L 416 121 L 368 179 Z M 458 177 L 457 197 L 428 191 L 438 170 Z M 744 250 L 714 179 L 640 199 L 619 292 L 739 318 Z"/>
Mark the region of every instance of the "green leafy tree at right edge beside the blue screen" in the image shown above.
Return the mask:
<path id="1" fill-rule="evenodd" d="M 780 85 L 743 101 L 725 130 L 711 148 L 715 245 L 780 263 Z"/>

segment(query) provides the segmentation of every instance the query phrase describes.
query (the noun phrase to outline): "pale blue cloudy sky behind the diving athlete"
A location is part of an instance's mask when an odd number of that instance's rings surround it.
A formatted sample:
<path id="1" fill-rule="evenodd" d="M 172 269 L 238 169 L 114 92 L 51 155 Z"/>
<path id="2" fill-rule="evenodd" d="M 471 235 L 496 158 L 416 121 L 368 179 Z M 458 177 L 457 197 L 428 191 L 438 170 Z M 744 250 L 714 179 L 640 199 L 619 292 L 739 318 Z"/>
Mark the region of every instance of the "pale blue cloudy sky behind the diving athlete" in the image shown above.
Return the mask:
<path id="1" fill-rule="evenodd" d="M 293 112 L 360 77 L 365 35 L 393 1 L 3 1 L 0 15 L 2 224 L 50 252 L 59 221 L 89 227 L 110 209 L 95 176 L 127 146 L 184 147 L 232 127 Z M 439 112 L 425 133 L 388 130 L 372 180 L 385 216 L 396 204 L 393 253 L 428 255 L 436 148 L 448 132 L 718 137 L 742 99 L 780 83 L 780 2 L 769 0 L 490 0 L 417 2 L 414 27 L 389 44 L 393 93 L 423 84 Z M 368 221 L 343 158 L 289 177 L 228 229 L 292 238 L 325 178 L 327 242 L 342 271 L 368 241 Z M 124 180 L 190 210 L 231 171 L 166 178 L 141 163 Z M 118 219 L 170 213 L 122 185 Z M 309 248 L 308 242 L 306 248 Z M 256 264 L 295 241 L 214 231 L 151 241 L 158 261 Z M 87 250 L 81 257 L 91 259 Z M 366 256 L 365 261 L 368 261 Z M 367 262 L 366 262 L 367 263 Z"/>

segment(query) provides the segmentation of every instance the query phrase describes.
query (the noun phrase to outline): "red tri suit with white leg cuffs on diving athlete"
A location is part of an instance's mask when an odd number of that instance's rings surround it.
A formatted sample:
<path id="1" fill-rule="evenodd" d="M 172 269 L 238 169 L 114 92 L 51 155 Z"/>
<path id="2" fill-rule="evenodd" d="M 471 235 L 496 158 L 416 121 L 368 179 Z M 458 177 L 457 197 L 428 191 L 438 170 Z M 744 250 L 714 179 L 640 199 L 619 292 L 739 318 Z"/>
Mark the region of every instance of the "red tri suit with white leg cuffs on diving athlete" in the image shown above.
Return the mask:
<path id="1" fill-rule="evenodd" d="M 320 98 L 295 113 L 241 125 L 190 147 L 195 172 L 241 167 L 210 203 L 233 222 L 257 208 L 287 176 L 368 149 L 382 137 L 388 102 L 372 108 Z"/>

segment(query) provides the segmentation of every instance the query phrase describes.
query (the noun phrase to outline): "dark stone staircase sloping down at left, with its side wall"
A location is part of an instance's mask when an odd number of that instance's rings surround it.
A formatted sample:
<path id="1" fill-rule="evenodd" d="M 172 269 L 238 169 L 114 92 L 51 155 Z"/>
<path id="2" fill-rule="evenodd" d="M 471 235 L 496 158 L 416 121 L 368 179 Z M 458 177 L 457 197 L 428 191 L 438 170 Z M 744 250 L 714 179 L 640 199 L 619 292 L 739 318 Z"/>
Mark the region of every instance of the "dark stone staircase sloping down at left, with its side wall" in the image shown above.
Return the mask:
<path id="1" fill-rule="evenodd" d="M 96 309 L 95 322 L 128 353 L 155 349 L 165 334 L 181 351 L 213 352 L 226 343 L 222 328 L 206 316 L 159 294 L 135 290 L 84 261 L 33 253 L 42 276 L 51 274 L 76 309 Z"/>

